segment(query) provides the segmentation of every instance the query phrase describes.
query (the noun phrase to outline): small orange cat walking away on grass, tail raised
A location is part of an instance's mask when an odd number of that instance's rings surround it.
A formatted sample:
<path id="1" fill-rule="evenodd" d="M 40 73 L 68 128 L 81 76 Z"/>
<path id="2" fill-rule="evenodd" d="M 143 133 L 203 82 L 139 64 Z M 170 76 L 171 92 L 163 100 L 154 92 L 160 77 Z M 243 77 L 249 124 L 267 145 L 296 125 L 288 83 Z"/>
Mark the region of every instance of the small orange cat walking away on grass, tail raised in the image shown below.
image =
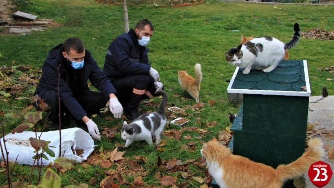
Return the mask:
<path id="1" fill-rule="evenodd" d="M 193 78 L 185 70 L 179 70 L 178 72 L 179 83 L 182 89 L 186 90 L 195 99 L 196 103 L 199 103 L 198 96 L 202 81 L 202 69 L 199 63 L 195 64 L 195 75 L 196 77 Z"/>

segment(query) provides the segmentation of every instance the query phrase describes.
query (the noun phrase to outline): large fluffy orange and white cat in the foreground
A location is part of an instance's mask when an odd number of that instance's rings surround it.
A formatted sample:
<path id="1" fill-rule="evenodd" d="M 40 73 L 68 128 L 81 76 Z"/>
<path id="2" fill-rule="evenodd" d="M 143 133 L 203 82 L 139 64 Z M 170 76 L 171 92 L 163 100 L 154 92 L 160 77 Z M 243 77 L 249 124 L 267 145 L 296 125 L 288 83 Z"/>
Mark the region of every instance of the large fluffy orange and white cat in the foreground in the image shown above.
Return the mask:
<path id="1" fill-rule="evenodd" d="M 308 145 L 310 149 L 296 161 L 279 165 L 277 169 L 233 155 L 215 138 L 203 145 L 201 154 L 220 188 L 281 188 L 286 180 L 302 176 L 312 163 L 324 156 L 320 138 L 310 139 Z"/>

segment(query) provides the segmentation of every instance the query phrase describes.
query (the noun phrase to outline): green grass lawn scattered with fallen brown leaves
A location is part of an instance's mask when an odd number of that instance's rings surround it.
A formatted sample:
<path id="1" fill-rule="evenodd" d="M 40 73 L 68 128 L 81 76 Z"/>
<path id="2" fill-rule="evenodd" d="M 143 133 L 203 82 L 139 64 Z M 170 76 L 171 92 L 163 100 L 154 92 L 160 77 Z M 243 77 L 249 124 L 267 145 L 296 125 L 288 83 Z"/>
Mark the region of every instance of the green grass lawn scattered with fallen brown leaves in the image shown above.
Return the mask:
<path id="1" fill-rule="evenodd" d="M 276 7 L 276 8 L 275 8 Z M 145 164 L 140 164 L 148 172 L 143 177 L 149 185 L 161 187 L 158 179 L 154 178 L 156 172 L 162 175 L 178 177 L 176 185 L 187 182 L 189 187 L 199 187 L 201 184 L 192 178 L 183 179 L 180 172 L 159 169 L 156 166 L 157 156 L 169 161 L 172 158 L 182 162 L 200 157 L 200 149 L 203 142 L 217 137 L 218 132 L 229 126 L 227 113 L 237 113 L 238 107 L 227 102 L 226 88 L 231 79 L 235 66 L 225 61 L 224 52 L 235 47 L 240 42 L 240 35 L 273 36 L 284 42 L 288 42 L 293 34 L 293 24 L 298 22 L 302 31 L 312 28 L 334 28 L 333 6 L 305 6 L 305 5 L 271 5 L 253 3 L 229 3 L 207 1 L 202 5 L 180 8 L 161 8 L 134 6 L 128 7 L 130 28 L 133 28 L 140 19 L 149 19 L 154 27 L 154 35 L 148 45 L 150 48 L 149 59 L 156 68 L 165 84 L 165 90 L 169 95 L 169 105 L 172 104 L 184 108 L 195 104 L 190 96 L 181 90 L 177 80 L 178 70 L 188 70 L 194 75 L 195 63 L 202 65 L 203 81 L 201 84 L 200 102 L 205 103 L 202 111 L 196 113 L 190 109 L 186 111 L 186 118 L 190 122 L 185 127 L 198 127 L 209 133 L 183 131 L 181 140 L 164 137 L 166 145 L 164 151 L 157 151 L 153 146 L 137 142 L 127 149 L 124 157 L 132 159 L 133 156 L 147 157 Z M 104 5 L 94 0 L 30 0 L 29 5 L 21 7 L 20 11 L 37 15 L 39 18 L 53 19 L 60 27 L 49 28 L 47 31 L 32 32 L 26 35 L 4 35 L 0 33 L 0 65 L 30 65 L 34 69 L 40 68 L 47 52 L 69 37 L 81 38 L 88 50 L 100 67 L 103 67 L 106 50 L 111 41 L 124 32 L 122 6 Z M 239 30 L 234 32 L 232 30 Z M 93 39 L 94 38 L 94 39 Z M 290 49 L 290 59 L 306 59 L 308 61 L 312 95 L 321 95 L 322 87 L 327 87 L 328 93 L 334 93 L 333 74 L 327 71 L 319 71 L 317 68 L 326 68 L 334 65 L 333 41 L 302 38 L 297 46 Z M 1 80 L 0 80 L 1 81 Z M 23 91 L 16 97 L 31 97 L 31 91 Z M 175 97 L 180 95 L 181 97 Z M 182 98 L 184 97 L 184 98 Z M 212 106 L 209 100 L 216 103 Z M 160 99 L 154 99 L 151 103 L 159 104 Z M 8 99 L 0 101 L 0 109 L 5 114 L 13 112 L 18 114 L 21 108 L 29 105 L 29 100 Z M 141 112 L 147 110 L 156 111 L 156 107 L 141 105 Z M 203 110 L 204 109 L 204 110 Z M 103 114 L 94 118 L 101 127 L 121 126 L 122 120 L 106 121 L 105 117 L 111 114 Z M 200 117 L 201 119 L 199 119 Z M 196 119 L 197 118 L 197 119 Z M 5 126 L 5 134 L 12 131 L 22 120 L 22 116 L 5 118 L 0 116 Z M 218 122 L 208 128 L 207 122 Z M 180 127 L 169 125 L 166 130 L 180 130 Z M 183 137 L 190 135 L 192 139 Z M 195 137 L 202 136 L 202 139 Z M 195 142 L 196 149 L 190 151 L 180 149 L 182 145 Z M 120 134 L 114 139 L 102 137 L 101 142 L 96 142 L 98 151 L 101 146 L 105 150 L 113 150 L 115 143 L 124 144 Z M 116 166 L 112 166 L 116 168 Z M 80 170 L 78 170 L 80 169 Z M 205 168 L 196 165 L 188 165 L 187 169 L 193 176 L 204 178 Z M 99 166 L 78 168 L 65 172 L 62 177 L 63 185 L 87 183 L 92 177 L 96 177 L 98 184 L 106 177 L 105 171 Z M 13 181 L 18 177 L 29 175 L 30 167 L 16 165 L 12 172 Z M 0 172 L 0 185 L 7 184 L 6 176 Z M 130 183 L 134 182 L 132 175 L 126 177 Z M 35 178 L 36 180 L 36 178 Z M 98 187 L 99 185 L 91 186 Z M 126 187 L 126 186 L 123 186 Z"/>

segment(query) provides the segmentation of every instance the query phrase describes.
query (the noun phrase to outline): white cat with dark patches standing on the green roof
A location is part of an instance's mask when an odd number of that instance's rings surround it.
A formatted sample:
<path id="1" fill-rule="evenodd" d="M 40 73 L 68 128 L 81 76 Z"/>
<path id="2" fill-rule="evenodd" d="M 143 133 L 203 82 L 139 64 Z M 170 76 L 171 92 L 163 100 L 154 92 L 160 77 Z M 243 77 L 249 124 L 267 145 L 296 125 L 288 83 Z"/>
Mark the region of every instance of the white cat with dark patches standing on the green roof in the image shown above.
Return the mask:
<path id="1" fill-rule="evenodd" d="M 294 31 L 292 40 L 288 43 L 283 43 L 274 37 L 259 37 L 240 44 L 225 53 L 226 61 L 239 68 L 245 68 L 242 72 L 244 74 L 248 74 L 253 67 L 270 72 L 284 57 L 284 50 L 290 49 L 298 43 L 300 39 L 298 23 L 295 23 Z"/>

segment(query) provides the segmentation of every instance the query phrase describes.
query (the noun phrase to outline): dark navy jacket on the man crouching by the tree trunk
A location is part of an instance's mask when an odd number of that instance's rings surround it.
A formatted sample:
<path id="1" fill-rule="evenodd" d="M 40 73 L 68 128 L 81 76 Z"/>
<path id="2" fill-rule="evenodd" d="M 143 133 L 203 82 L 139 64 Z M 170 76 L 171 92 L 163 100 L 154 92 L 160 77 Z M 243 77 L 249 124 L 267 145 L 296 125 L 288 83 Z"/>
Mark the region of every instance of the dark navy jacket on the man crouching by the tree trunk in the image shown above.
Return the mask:
<path id="1" fill-rule="evenodd" d="M 103 72 L 110 80 L 132 74 L 149 74 L 148 51 L 139 45 L 135 31 L 130 29 L 109 45 Z"/>

